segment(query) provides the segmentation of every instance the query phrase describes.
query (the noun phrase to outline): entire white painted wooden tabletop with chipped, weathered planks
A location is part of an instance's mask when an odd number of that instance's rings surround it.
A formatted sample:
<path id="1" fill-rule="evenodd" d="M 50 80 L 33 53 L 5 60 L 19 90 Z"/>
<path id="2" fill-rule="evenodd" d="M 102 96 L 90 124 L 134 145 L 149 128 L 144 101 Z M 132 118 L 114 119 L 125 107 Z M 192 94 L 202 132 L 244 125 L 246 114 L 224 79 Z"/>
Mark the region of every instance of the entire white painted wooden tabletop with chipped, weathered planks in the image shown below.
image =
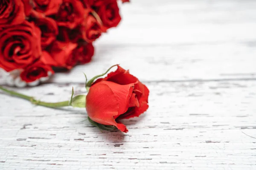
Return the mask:
<path id="1" fill-rule="evenodd" d="M 84 109 L 0 94 L 0 170 L 256 170 L 256 1 L 133 0 L 93 62 L 15 89 L 57 102 L 119 63 L 150 89 L 149 109 L 100 132 Z M 254 137 L 254 138 L 253 138 Z"/>

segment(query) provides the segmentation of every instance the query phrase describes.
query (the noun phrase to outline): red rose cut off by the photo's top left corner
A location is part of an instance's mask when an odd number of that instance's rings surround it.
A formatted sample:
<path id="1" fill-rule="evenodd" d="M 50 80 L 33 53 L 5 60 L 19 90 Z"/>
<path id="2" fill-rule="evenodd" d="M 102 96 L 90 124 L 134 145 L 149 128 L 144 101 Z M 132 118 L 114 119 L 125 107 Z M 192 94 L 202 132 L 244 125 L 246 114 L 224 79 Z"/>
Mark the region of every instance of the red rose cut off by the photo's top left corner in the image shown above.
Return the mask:
<path id="1" fill-rule="evenodd" d="M 0 1 L 0 27 L 17 25 L 24 20 L 24 5 L 21 0 Z"/>

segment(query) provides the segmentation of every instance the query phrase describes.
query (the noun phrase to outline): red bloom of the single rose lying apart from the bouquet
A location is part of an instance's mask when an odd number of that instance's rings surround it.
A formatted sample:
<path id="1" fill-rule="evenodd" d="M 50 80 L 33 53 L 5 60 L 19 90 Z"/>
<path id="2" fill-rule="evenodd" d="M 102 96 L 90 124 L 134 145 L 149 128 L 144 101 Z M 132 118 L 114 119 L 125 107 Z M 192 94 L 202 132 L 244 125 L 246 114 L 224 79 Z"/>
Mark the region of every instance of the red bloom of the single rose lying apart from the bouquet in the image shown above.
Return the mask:
<path id="1" fill-rule="evenodd" d="M 90 87 L 86 96 L 87 114 L 94 122 L 114 125 L 128 132 L 119 119 L 139 116 L 148 109 L 148 88 L 129 71 L 119 67 Z M 117 120 L 117 122 L 116 122 Z"/>

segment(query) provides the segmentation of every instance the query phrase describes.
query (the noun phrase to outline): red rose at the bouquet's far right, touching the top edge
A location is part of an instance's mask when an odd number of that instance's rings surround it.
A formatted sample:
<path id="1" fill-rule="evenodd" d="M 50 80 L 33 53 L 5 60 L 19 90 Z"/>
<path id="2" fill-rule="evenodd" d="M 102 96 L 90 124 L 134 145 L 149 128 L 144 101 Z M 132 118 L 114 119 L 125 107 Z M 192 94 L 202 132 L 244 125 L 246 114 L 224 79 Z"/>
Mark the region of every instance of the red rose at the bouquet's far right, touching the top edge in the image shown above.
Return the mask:
<path id="1" fill-rule="evenodd" d="M 103 23 L 103 31 L 108 28 L 116 27 L 121 21 L 119 15 L 119 8 L 116 0 L 102 0 L 97 1 L 97 5 L 104 2 L 102 5 L 96 7 L 96 12 L 99 15 Z"/>

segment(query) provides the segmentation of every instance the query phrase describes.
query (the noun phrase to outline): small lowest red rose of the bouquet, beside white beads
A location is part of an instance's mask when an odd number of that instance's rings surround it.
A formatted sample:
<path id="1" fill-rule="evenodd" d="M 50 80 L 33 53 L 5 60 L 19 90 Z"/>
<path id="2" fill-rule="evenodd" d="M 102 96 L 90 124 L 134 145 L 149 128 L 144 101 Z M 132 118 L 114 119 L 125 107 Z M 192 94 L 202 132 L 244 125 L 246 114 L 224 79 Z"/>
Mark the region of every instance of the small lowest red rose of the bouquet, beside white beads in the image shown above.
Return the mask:
<path id="1" fill-rule="evenodd" d="M 34 82 L 42 77 L 48 77 L 52 74 L 54 74 L 54 71 L 51 66 L 45 65 L 42 62 L 35 62 L 24 68 L 24 71 L 20 74 L 20 78 L 25 82 Z"/>

